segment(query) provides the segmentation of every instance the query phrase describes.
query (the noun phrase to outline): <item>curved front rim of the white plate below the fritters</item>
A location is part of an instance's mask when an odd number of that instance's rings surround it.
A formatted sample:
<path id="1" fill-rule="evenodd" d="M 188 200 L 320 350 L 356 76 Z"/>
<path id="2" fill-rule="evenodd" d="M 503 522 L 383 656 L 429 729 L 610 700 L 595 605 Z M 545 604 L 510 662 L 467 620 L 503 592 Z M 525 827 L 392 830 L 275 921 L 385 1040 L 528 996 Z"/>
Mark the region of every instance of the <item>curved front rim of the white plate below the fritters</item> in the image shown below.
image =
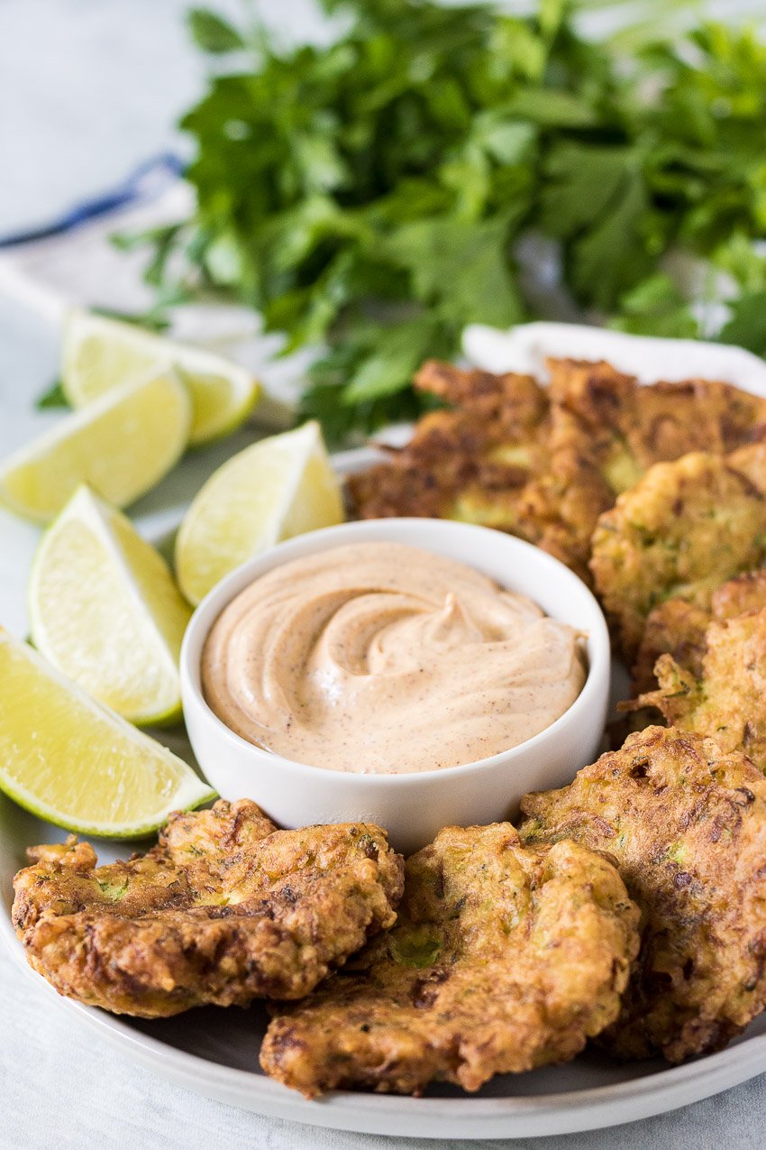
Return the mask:
<path id="1" fill-rule="evenodd" d="M 471 1141 L 574 1134 L 678 1110 L 766 1071 L 763 1034 L 680 1066 L 582 1090 L 490 1098 L 411 1098 L 336 1090 L 320 1099 L 307 1099 L 266 1075 L 180 1050 L 133 1029 L 118 1015 L 59 995 L 26 963 L 5 907 L 0 935 L 15 966 L 34 980 L 39 992 L 53 996 L 82 1028 L 98 1033 L 132 1061 L 218 1102 L 331 1129 Z"/>

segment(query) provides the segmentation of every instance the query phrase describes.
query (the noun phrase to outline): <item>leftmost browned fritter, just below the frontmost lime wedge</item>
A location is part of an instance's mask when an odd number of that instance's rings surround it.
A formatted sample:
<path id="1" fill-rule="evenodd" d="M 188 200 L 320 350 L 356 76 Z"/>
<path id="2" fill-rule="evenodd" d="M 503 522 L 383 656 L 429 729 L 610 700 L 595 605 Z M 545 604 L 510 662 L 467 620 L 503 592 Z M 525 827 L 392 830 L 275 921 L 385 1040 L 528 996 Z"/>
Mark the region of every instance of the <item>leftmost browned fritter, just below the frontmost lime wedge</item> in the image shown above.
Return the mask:
<path id="1" fill-rule="evenodd" d="M 402 859 L 379 827 L 277 830 L 247 799 L 173 814 L 147 854 L 96 868 L 88 843 L 30 850 L 14 925 L 60 994 L 157 1018 L 300 998 L 389 927 Z"/>

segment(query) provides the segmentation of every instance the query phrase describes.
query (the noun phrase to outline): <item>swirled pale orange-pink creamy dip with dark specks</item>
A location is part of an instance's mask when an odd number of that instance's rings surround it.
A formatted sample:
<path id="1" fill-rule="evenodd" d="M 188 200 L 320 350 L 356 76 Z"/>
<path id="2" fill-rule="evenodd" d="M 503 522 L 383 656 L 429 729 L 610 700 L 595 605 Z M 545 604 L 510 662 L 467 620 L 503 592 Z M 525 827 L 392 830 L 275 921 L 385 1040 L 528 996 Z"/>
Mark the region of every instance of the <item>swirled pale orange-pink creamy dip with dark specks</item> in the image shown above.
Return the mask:
<path id="1" fill-rule="evenodd" d="M 583 682 L 572 627 L 464 564 L 396 543 L 262 575 L 202 653 L 204 697 L 238 735 L 297 762 L 374 774 L 518 746 Z"/>

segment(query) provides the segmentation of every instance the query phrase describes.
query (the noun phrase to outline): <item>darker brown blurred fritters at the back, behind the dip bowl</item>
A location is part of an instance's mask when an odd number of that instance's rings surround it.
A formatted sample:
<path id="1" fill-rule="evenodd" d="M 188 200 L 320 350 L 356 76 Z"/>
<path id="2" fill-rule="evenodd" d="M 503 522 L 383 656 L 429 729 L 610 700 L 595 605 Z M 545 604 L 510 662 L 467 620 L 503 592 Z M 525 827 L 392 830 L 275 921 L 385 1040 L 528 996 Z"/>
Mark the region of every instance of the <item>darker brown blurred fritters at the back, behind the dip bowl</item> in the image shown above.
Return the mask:
<path id="1" fill-rule="evenodd" d="M 550 386 L 428 362 L 416 386 L 450 409 L 348 483 L 362 518 L 434 515 L 519 535 L 590 580 L 598 516 L 653 463 L 730 452 L 766 429 L 766 400 L 725 383 L 640 386 L 609 363 L 549 361 Z"/>

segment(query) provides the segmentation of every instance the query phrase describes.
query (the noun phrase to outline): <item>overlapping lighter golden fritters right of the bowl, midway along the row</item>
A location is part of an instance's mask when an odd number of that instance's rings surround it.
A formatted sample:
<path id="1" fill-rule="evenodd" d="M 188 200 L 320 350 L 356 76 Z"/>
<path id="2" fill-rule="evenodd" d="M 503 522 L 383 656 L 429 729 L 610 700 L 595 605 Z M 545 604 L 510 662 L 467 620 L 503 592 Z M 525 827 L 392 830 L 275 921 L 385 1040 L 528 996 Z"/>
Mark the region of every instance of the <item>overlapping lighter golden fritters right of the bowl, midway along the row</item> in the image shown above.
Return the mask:
<path id="1" fill-rule="evenodd" d="M 766 769 L 764 491 L 763 442 L 656 465 L 601 515 L 590 566 L 633 662 L 630 726 L 661 714 Z"/>

